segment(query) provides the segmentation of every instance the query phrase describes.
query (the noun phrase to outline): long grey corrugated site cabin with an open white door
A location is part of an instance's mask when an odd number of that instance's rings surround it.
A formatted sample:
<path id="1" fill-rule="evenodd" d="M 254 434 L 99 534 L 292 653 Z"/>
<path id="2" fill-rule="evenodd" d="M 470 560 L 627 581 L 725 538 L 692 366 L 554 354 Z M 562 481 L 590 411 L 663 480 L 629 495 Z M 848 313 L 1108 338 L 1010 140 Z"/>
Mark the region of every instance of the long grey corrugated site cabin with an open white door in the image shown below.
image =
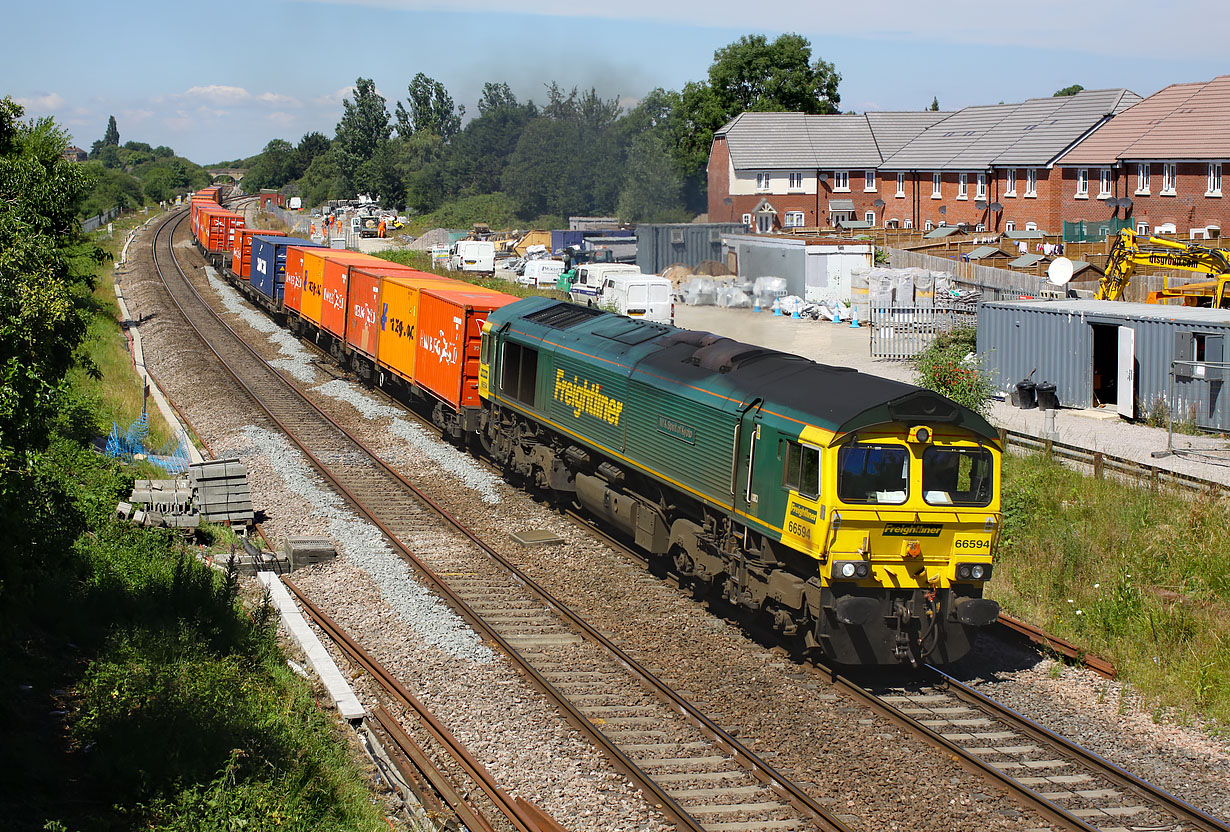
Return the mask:
<path id="1" fill-rule="evenodd" d="M 1228 345 L 1226 310 L 1073 299 L 978 308 L 978 354 L 996 388 L 1006 393 L 1037 368 L 1033 382 L 1053 383 L 1060 406 L 1113 406 L 1130 418 L 1165 402 L 1177 418 L 1230 430 L 1228 372 L 1216 366 L 1230 361 Z M 1200 362 L 1176 368 L 1173 400 L 1172 361 Z"/>

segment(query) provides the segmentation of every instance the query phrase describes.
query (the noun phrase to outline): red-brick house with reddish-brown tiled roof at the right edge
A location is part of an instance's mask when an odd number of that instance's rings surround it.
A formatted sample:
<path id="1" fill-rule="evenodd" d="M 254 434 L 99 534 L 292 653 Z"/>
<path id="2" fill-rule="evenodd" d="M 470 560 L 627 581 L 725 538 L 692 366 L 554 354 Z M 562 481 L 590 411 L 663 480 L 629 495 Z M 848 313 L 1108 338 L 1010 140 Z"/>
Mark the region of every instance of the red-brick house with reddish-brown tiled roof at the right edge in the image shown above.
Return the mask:
<path id="1" fill-rule="evenodd" d="M 1065 153 L 1064 218 L 1129 222 L 1144 234 L 1220 236 L 1230 161 L 1230 75 L 1175 84 Z"/>

